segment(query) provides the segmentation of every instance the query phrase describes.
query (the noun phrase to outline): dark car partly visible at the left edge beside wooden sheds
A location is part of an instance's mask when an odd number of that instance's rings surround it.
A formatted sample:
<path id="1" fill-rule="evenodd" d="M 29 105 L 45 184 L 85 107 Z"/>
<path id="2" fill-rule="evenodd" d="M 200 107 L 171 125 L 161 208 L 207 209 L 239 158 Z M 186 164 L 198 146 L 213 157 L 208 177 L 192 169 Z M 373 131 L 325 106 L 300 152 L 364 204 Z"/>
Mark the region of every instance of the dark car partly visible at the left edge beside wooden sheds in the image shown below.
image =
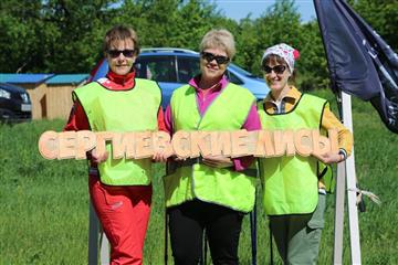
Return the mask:
<path id="1" fill-rule="evenodd" d="M 0 121 L 18 123 L 32 119 L 32 103 L 22 87 L 0 83 Z"/>

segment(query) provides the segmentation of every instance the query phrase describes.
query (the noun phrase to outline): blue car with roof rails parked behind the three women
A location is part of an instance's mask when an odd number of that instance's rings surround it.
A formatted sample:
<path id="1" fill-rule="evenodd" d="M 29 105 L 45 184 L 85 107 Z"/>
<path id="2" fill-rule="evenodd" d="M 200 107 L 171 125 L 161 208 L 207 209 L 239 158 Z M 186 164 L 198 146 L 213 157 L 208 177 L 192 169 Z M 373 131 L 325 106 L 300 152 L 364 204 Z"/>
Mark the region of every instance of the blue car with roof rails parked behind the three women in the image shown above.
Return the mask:
<path id="1" fill-rule="evenodd" d="M 166 107 L 170 102 L 172 91 L 187 84 L 191 77 L 200 72 L 199 56 L 199 53 L 186 49 L 142 49 L 135 62 L 137 77 L 158 82 L 161 88 L 161 105 Z M 108 64 L 106 60 L 102 60 L 92 71 L 90 81 L 104 77 L 107 71 Z M 259 78 L 235 64 L 231 63 L 228 66 L 227 76 L 230 82 L 251 91 L 258 99 L 264 98 L 270 91 L 264 80 Z"/>

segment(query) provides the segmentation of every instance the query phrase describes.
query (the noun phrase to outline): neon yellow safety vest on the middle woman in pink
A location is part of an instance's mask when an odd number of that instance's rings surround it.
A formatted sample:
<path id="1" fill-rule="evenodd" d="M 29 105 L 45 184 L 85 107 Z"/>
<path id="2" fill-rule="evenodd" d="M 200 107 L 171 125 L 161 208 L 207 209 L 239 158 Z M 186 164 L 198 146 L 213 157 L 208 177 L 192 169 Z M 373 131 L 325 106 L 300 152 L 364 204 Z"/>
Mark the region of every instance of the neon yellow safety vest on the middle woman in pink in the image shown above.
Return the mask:
<path id="1" fill-rule="evenodd" d="M 177 130 L 237 130 L 241 129 L 255 102 L 245 88 L 228 84 L 200 116 L 195 88 L 186 85 L 171 96 L 174 129 Z M 174 206 L 195 198 L 241 212 L 250 212 L 255 197 L 254 177 L 205 166 L 200 162 L 178 167 L 165 177 L 166 206 Z"/>

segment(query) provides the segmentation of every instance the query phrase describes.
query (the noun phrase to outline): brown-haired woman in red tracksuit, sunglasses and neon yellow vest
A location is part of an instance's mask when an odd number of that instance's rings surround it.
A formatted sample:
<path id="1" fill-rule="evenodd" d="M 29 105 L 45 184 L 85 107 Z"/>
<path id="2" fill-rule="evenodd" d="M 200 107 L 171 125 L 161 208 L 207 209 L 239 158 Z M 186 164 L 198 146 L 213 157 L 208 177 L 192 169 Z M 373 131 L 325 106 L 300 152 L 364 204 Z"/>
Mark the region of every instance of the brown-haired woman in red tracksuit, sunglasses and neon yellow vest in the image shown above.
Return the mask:
<path id="1" fill-rule="evenodd" d="M 143 131 L 164 128 L 160 89 L 135 78 L 139 53 L 136 32 L 123 25 L 104 39 L 109 65 L 106 77 L 73 92 L 74 106 L 65 130 Z M 91 201 L 111 243 L 111 264 L 142 264 L 151 202 L 150 159 L 90 156 Z"/>

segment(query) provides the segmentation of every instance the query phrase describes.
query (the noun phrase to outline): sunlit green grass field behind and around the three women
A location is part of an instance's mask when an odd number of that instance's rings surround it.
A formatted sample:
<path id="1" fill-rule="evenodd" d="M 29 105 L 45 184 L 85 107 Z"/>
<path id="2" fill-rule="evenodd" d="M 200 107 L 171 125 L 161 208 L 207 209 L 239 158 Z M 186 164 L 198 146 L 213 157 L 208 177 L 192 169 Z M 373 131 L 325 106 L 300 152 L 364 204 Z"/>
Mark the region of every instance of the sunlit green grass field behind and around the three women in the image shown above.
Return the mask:
<path id="1" fill-rule="evenodd" d="M 333 99 L 328 92 L 317 94 Z M 371 190 L 383 201 L 377 206 L 366 200 L 367 211 L 359 214 L 363 264 L 398 264 L 398 136 L 385 128 L 369 104 L 354 100 L 353 105 L 357 178 L 363 189 Z M 87 264 L 90 199 L 85 161 L 44 160 L 36 147 L 43 131 L 60 131 L 64 123 L 0 125 L 1 265 Z M 163 173 L 164 167 L 157 165 L 145 264 L 164 263 Z M 333 258 L 334 195 L 327 200 L 320 264 L 332 264 Z M 261 202 L 258 206 L 258 264 L 269 264 L 268 221 Z M 240 241 L 243 265 L 251 258 L 248 220 Z M 349 264 L 347 229 L 344 264 Z"/>

